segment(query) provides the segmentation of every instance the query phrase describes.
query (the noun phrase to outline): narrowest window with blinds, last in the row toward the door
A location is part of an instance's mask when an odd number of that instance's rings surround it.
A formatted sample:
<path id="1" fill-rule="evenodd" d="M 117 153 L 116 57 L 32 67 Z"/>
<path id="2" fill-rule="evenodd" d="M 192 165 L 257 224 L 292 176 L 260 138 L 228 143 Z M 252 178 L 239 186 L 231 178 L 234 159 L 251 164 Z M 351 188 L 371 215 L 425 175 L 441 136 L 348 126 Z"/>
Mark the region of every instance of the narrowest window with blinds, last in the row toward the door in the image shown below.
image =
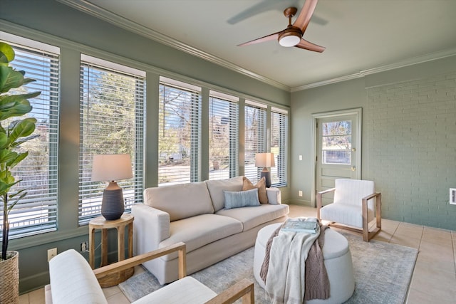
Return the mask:
<path id="1" fill-rule="evenodd" d="M 286 147 L 288 140 L 288 112 L 271 108 L 271 152 L 276 167 L 271 167 L 271 185 L 286 186 Z"/>

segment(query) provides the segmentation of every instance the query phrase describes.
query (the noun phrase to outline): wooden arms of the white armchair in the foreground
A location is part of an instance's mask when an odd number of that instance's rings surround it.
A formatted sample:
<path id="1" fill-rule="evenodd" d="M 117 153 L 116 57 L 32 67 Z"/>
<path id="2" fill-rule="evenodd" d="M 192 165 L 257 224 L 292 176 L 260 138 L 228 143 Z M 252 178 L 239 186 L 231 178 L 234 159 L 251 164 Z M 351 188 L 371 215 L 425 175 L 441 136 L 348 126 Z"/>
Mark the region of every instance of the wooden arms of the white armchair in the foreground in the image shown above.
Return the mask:
<path id="1" fill-rule="evenodd" d="M 128 258 L 124 261 L 119 261 L 108 266 L 94 269 L 93 273 L 95 273 L 96 278 L 100 280 L 100 278 L 104 278 L 105 276 L 110 276 L 113 273 L 117 273 L 118 271 L 123 271 L 125 269 L 140 265 L 145 261 L 150 261 L 154 258 L 160 258 L 160 256 L 165 256 L 175 251 L 178 251 L 179 254 L 179 278 L 181 279 L 187 276 L 186 249 L 185 243 L 182 242 L 175 243 L 174 245 L 167 246 L 165 248 L 150 251 L 139 256 L 134 256 L 133 258 Z M 254 283 L 252 283 L 252 281 L 244 278 L 243 280 L 224 290 L 222 293 L 219 293 L 219 295 L 207 301 L 206 303 L 229 304 L 238 299 L 242 299 L 243 304 L 252 304 L 255 302 Z"/>

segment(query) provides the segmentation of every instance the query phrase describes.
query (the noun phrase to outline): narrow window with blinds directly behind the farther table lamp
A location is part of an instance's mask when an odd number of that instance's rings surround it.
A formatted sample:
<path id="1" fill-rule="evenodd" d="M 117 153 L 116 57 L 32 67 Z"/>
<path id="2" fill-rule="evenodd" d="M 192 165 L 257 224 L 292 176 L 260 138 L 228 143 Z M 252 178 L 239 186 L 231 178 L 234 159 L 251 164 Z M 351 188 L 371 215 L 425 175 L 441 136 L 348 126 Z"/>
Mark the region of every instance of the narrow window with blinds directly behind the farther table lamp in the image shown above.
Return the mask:
<path id="1" fill-rule="evenodd" d="M 255 154 L 266 152 L 266 106 L 246 100 L 244 175 L 257 182 L 263 168 L 255 167 Z"/>

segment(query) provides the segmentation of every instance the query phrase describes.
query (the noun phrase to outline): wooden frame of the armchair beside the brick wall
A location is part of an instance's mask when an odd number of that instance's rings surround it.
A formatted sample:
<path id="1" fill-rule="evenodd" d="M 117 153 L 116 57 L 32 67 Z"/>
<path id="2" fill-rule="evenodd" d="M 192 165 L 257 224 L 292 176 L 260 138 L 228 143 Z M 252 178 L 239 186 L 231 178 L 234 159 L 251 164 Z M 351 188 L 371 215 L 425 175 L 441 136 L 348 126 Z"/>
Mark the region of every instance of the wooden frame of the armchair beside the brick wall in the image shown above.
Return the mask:
<path id="1" fill-rule="evenodd" d="M 326 189 L 324 191 L 318 192 L 316 194 L 316 216 L 318 221 L 321 221 L 320 217 L 320 209 L 322 208 L 321 205 L 321 196 L 326 193 L 334 192 L 336 188 Z M 373 199 L 375 197 L 375 228 L 372 231 L 369 231 L 369 222 L 368 222 L 368 200 Z M 380 232 L 382 229 L 382 194 L 380 192 L 373 193 L 363 198 L 362 206 L 363 209 L 363 228 L 359 229 L 352 226 L 347 226 L 343 224 L 337 224 L 332 222 L 329 224 L 330 226 L 335 226 L 342 229 L 348 229 L 351 231 L 355 231 L 361 233 L 363 235 L 363 241 L 371 241 L 371 239 Z"/>

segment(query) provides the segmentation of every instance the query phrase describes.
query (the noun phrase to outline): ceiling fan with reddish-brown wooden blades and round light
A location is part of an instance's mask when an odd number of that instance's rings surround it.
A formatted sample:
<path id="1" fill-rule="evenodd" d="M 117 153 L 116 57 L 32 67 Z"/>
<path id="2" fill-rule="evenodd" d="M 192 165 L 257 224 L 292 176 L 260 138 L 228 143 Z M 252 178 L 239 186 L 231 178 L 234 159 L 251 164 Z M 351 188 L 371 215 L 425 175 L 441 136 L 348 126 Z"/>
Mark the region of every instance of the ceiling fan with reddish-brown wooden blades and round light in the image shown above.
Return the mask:
<path id="1" fill-rule="evenodd" d="M 305 50 L 309 51 L 319 53 L 323 52 L 325 50 L 324 46 L 317 46 L 316 44 L 306 41 L 302 38 L 307 26 L 309 25 L 309 21 L 311 21 L 312 14 L 314 14 L 317 2 L 318 0 L 306 0 L 301 13 L 299 13 L 299 16 L 296 18 L 296 21 L 294 21 L 293 24 L 291 24 L 291 18 L 296 15 L 298 9 L 296 9 L 296 7 L 289 7 L 285 9 L 284 16 L 289 19 L 289 24 L 283 31 L 271 33 L 268 36 L 241 43 L 238 46 L 249 46 L 250 44 L 277 39 L 281 46 L 296 46 L 296 48 L 304 48 Z"/>

